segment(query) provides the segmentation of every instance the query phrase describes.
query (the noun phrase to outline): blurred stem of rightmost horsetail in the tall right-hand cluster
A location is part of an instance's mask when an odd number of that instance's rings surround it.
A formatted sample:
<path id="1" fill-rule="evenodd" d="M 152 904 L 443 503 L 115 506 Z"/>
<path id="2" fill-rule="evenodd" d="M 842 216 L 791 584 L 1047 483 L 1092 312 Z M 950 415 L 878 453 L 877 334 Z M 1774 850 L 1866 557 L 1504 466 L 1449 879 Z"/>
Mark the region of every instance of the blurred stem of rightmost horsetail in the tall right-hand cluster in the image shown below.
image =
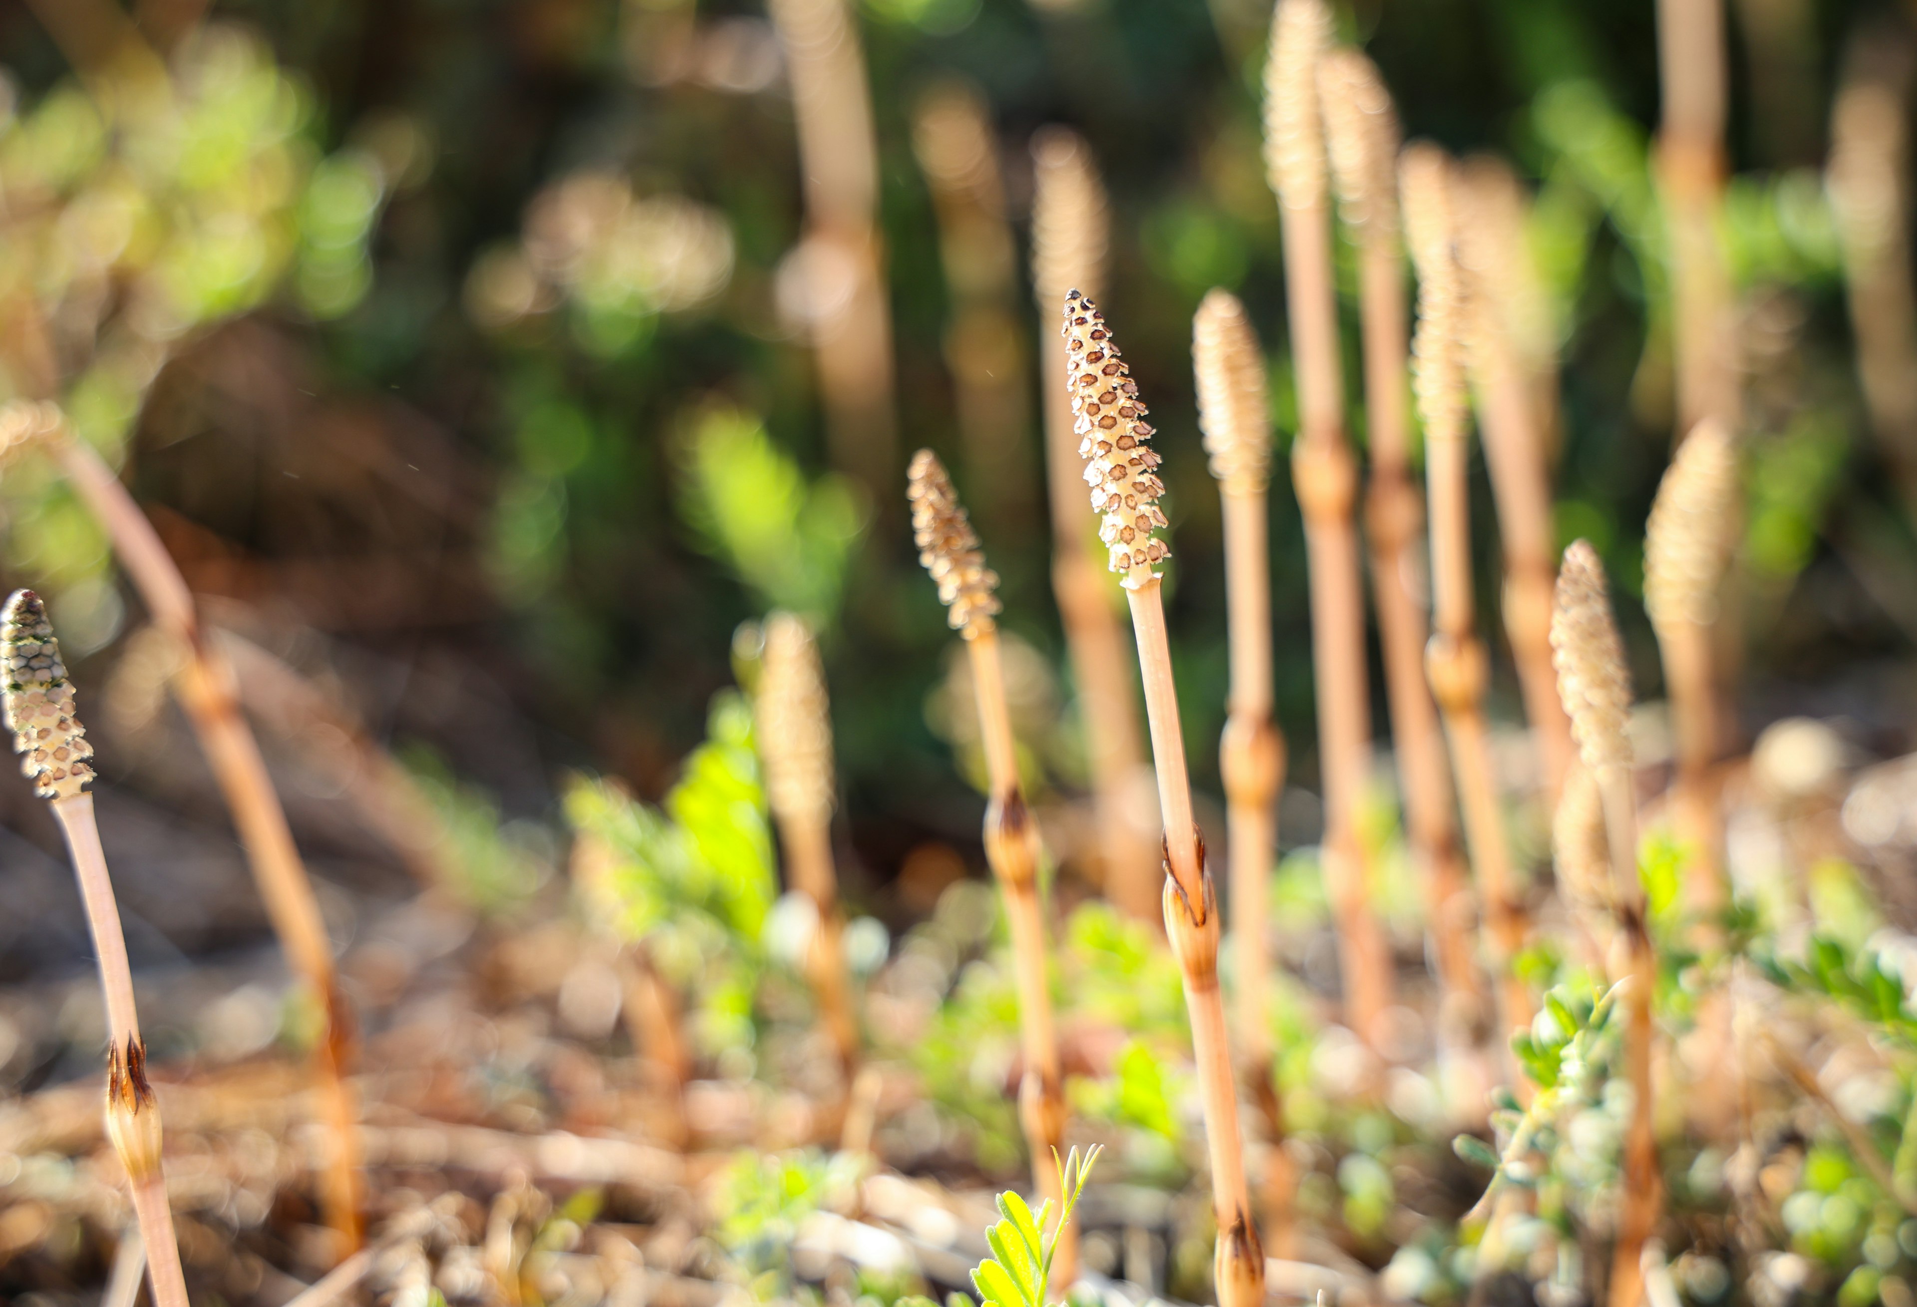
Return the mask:
<path id="1" fill-rule="evenodd" d="M 1551 588 L 1557 585 L 1551 479 L 1526 376 L 1503 328 L 1491 322 L 1497 314 L 1478 312 L 1480 332 L 1490 337 L 1478 368 L 1478 416 L 1505 552 L 1505 634 L 1518 663 L 1524 717 L 1537 740 L 1551 805 L 1564 788 L 1572 749 L 1570 719 L 1551 665 Z"/>

